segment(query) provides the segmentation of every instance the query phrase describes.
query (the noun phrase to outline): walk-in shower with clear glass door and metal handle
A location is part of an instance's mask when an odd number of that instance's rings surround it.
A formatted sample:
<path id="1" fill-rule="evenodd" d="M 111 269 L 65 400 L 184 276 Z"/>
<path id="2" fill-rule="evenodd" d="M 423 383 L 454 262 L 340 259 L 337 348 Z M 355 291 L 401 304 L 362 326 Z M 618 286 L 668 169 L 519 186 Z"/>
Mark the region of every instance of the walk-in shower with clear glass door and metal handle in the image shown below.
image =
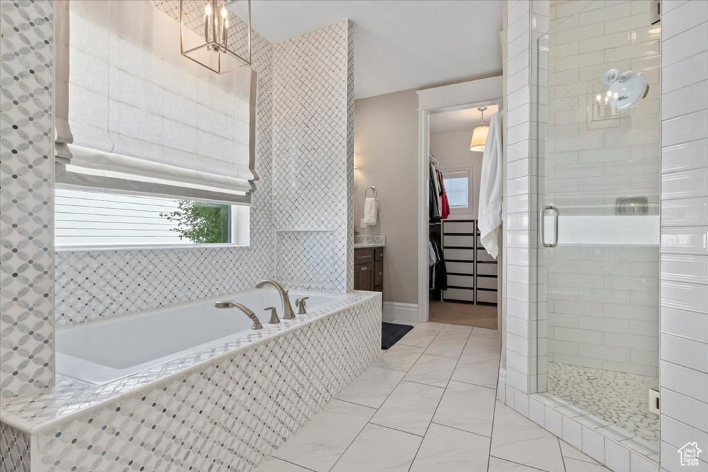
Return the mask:
<path id="1" fill-rule="evenodd" d="M 650 0 L 545 4 L 531 71 L 537 390 L 656 459 L 660 25 Z"/>

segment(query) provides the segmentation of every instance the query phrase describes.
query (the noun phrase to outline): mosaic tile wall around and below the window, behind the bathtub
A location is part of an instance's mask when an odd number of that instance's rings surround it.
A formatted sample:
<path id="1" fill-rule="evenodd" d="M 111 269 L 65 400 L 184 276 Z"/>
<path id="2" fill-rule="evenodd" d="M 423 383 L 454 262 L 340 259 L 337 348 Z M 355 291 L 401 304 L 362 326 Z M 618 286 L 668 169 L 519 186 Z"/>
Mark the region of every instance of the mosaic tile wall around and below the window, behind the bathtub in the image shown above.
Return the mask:
<path id="1" fill-rule="evenodd" d="M 153 1 L 179 18 L 178 1 Z M 57 324 L 135 313 L 253 287 L 275 273 L 272 223 L 272 46 L 252 38 L 258 73 L 256 173 L 251 205 L 251 246 L 57 253 Z"/>

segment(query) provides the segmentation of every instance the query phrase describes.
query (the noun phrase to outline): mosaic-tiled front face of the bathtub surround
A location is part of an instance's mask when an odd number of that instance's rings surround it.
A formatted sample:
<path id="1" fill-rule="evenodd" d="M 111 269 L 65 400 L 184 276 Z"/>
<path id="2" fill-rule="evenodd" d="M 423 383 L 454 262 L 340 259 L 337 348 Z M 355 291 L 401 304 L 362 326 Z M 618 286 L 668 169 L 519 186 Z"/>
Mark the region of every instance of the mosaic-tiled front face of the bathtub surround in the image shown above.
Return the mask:
<path id="1" fill-rule="evenodd" d="M 251 470 L 377 359 L 380 336 L 376 296 L 51 425 L 32 452 L 52 471 Z"/>

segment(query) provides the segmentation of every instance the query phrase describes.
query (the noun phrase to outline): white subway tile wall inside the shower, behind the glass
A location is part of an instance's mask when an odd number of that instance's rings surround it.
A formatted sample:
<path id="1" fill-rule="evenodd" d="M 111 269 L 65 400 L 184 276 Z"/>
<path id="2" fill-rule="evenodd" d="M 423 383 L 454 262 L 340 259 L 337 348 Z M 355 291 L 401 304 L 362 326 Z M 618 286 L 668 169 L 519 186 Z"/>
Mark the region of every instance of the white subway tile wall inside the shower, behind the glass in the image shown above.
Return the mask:
<path id="1" fill-rule="evenodd" d="M 618 197 L 641 195 L 658 214 L 661 28 L 649 1 L 551 1 L 547 142 L 539 171 L 548 201 L 567 214 L 615 214 Z M 588 100 L 604 94 L 607 69 L 641 71 L 648 95 L 626 115 Z M 547 159 L 544 156 L 548 156 Z M 547 265 L 549 362 L 658 376 L 658 246 L 564 246 Z"/>

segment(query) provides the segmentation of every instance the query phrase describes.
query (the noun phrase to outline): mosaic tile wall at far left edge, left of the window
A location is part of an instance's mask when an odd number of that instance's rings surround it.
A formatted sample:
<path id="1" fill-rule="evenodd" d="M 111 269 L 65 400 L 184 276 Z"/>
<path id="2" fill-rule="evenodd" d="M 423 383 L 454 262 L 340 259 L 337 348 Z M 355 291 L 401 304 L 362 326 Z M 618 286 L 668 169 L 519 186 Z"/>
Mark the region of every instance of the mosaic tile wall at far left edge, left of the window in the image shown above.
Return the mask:
<path id="1" fill-rule="evenodd" d="M 0 396 L 54 383 L 54 4 L 3 1 Z"/>

